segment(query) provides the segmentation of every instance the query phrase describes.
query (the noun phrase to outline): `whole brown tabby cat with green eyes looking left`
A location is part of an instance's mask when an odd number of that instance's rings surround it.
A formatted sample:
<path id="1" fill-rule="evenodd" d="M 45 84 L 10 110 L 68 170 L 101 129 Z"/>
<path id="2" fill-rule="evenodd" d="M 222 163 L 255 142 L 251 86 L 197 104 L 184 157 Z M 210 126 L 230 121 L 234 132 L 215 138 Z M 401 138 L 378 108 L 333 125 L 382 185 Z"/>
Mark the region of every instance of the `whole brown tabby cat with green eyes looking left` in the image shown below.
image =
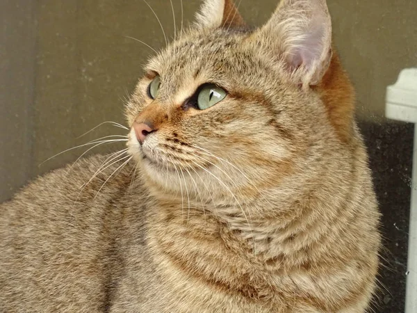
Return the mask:
<path id="1" fill-rule="evenodd" d="M 133 159 L 1 204 L 0 311 L 365 312 L 379 213 L 331 42 L 325 0 L 260 29 L 206 0 L 127 105 Z"/>

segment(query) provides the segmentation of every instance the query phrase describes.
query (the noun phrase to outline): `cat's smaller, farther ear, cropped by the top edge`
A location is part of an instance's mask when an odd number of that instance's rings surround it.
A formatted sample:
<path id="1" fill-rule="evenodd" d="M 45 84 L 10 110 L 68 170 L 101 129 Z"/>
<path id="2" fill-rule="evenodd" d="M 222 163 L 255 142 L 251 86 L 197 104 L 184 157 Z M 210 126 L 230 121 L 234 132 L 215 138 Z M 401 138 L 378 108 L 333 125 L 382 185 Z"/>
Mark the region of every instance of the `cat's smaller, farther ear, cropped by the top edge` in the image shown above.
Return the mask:
<path id="1" fill-rule="evenodd" d="M 231 0 L 204 0 L 196 24 L 203 29 L 244 26 L 242 16 Z"/>

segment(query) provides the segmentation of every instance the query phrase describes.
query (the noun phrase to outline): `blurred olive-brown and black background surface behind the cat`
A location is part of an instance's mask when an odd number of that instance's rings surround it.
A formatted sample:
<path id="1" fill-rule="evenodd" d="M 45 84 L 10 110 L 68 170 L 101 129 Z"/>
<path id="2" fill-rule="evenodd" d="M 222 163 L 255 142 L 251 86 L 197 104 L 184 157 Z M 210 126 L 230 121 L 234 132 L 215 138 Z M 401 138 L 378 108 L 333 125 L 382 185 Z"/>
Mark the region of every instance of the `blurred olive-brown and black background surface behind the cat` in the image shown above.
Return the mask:
<path id="1" fill-rule="evenodd" d="M 236 0 L 238 3 L 240 0 Z M 169 0 L 148 0 L 168 38 Z M 201 1 L 183 0 L 183 24 Z M 414 125 L 384 118 L 386 86 L 417 66 L 416 0 L 327 0 L 334 42 L 357 90 L 357 119 L 366 138 L 382 213 L 386 250 L 375 312 L 403 312 Z M 261 25 L 278 0 L 242 0 L 248 24 Z M 172 0 L 177 29 L 181 2 Z M 28 180 L 74 161 L 76 145 L 123 129 L 123 106 L 142 65 L 165 44 L 142 0 L 0 0 L 0 201 Z M 92 152 L 111 152 L 111 144 Z M 42 165 L 40 165 L 42 163 Z"/>

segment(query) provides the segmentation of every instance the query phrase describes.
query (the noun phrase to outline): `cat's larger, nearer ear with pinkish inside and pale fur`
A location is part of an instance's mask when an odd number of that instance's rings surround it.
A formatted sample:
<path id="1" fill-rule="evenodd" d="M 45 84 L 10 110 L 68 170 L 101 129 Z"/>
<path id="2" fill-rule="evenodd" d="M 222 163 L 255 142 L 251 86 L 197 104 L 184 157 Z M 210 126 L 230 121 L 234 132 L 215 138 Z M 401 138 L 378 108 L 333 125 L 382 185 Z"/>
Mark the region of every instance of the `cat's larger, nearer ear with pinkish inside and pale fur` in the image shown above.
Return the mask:
<path id="1" fill-rule="evenodd" d="M 332 22 L 325 0 L 281 0 L 258 31 L 295 84 L 320 83 L 332 59 Z"/>

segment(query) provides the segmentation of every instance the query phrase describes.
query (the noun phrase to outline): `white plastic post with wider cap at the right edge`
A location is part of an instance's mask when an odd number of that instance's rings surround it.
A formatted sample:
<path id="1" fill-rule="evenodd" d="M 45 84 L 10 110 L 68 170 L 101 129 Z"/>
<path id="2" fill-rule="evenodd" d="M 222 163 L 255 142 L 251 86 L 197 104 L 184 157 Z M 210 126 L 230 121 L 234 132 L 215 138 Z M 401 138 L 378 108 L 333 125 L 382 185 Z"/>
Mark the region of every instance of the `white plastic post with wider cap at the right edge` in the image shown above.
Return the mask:
<path id="1" fill-rule="evenodd" d="M 398 81 L 386 88 L 385 115 L 393 120 L 417 124 L 417 68 L 402 70 Z M 413 173 L 405 313 L 417 312 L 417 125 L 414 125 Z"/>

